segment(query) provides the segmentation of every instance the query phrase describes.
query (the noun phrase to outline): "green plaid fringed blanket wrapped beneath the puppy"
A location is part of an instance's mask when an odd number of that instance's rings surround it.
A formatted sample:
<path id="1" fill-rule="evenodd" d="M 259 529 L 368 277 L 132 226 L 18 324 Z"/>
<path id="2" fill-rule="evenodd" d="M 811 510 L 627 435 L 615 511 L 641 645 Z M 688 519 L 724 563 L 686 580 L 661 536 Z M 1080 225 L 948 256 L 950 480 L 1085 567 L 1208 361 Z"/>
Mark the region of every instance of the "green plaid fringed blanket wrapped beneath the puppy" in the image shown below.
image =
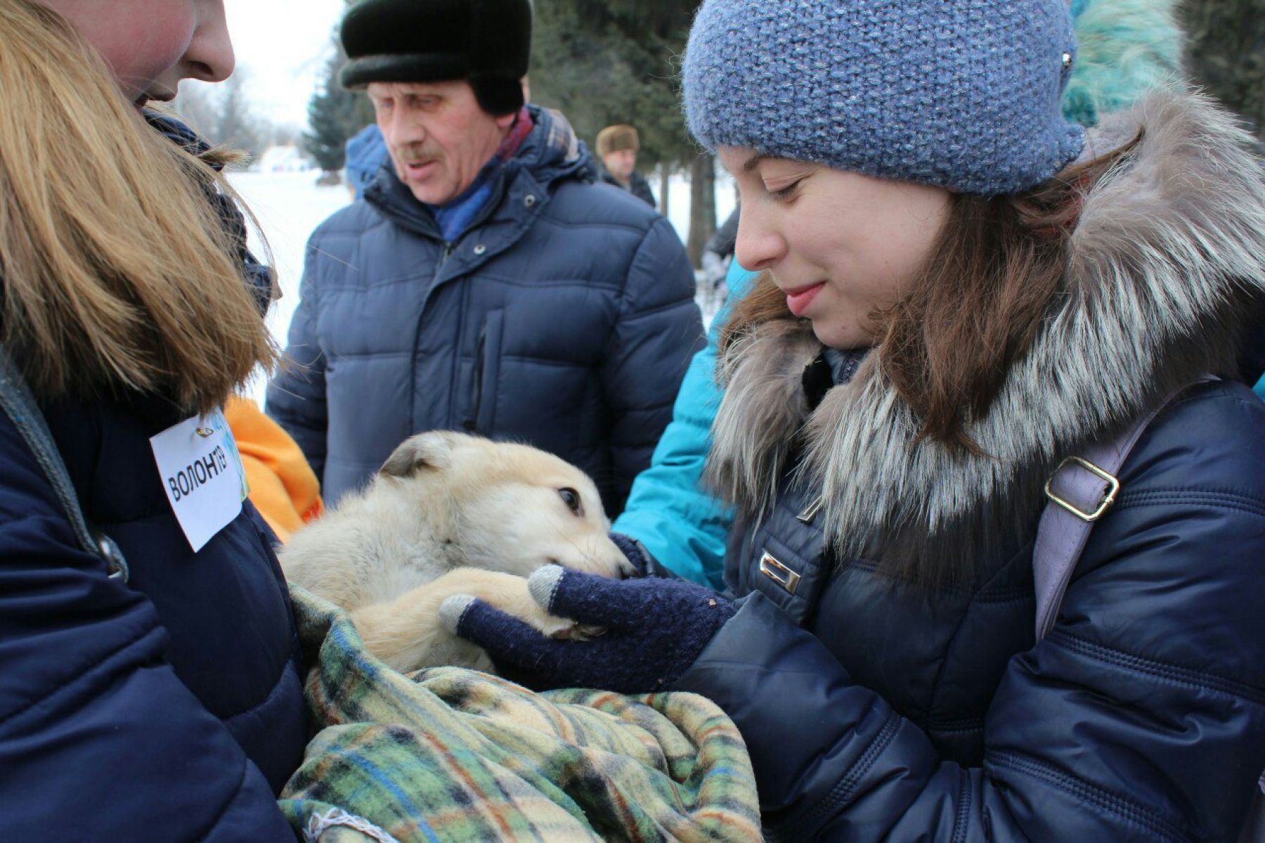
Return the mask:
<path id="1" fill-rule="evenodd" d="M 760 839 L 745 744 L 710 700 L 406 677 L 344 613 L 292 594 L 318 732 L 281 806 L 305 839 Z"/>

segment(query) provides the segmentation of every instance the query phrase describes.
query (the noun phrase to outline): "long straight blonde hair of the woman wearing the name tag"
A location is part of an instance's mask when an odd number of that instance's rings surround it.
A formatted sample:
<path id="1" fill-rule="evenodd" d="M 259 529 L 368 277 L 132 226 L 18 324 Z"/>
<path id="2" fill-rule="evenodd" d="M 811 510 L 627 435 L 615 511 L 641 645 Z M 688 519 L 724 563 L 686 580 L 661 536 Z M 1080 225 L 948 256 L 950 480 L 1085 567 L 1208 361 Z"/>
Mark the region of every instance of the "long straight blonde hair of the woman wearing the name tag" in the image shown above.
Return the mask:
<path id="1" fill-rule="evenodd" d="M 0 337 L 43 400 L 223 404 L 276 362 L 221 177 L 151 129 L 65 19 L 0 1 Z"/>

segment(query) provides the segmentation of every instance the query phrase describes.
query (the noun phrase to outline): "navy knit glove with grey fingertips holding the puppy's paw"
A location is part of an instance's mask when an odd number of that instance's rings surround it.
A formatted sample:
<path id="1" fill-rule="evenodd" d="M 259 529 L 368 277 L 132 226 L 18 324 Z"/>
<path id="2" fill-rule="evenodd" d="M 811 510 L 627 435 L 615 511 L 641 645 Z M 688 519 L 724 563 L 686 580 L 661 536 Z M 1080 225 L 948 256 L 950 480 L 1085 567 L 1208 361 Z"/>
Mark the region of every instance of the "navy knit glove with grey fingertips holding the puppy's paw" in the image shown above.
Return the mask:
<path id="1" fill-rule="evenodd" d="M 502 676 L 535 690 L 665 690 L 736 611 L 711 589 L 683 580 L 610 580 L 550 565 L 528 585 L 536 603 L 582 624 L 589 637 L 546 638 L 464 595 L 445 600 L 440 618 L 449 630 L 486 649 Z"/>

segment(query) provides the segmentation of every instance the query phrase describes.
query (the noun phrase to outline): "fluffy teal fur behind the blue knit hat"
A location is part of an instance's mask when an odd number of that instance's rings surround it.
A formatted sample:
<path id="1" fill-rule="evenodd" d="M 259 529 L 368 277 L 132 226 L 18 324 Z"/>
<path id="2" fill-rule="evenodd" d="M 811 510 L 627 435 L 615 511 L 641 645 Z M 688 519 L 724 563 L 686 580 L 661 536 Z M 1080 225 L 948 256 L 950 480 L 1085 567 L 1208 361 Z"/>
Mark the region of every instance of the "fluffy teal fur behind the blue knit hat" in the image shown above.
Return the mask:
<path id="1" fill-rule="evenodd" d="M 1176 0 L 1073 0 L 1077 65 L 1063 113 L 1083 125 L 1183 76 Z"/>

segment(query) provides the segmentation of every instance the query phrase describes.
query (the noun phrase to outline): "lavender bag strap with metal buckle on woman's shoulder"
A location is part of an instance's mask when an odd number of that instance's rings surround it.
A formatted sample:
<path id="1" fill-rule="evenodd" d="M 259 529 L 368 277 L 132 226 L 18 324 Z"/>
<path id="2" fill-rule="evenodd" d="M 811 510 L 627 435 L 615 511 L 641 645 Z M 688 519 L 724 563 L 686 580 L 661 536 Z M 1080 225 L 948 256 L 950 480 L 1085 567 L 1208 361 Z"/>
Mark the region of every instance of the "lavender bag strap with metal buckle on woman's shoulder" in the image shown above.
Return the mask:
<path id="1" fill-rule="evenodd" d="M 1194 384 L 1218 380 L 1204 375 L 1165 397 L 1154 410 L 1133 423 L 1112 442 L 1094 443 L 1080 457 L 1068 457 L 1045 485 L 1050 503 L 1041 513 L 1032 549 L 1032 578 L 1036 585 L 1036 638 L 1041 640 L 1054 628 L 1063 595 L 1071 581 L 1089 532 L 1120 494 L 1121 466 L 1138 437 L 1159 413 Z"/>

